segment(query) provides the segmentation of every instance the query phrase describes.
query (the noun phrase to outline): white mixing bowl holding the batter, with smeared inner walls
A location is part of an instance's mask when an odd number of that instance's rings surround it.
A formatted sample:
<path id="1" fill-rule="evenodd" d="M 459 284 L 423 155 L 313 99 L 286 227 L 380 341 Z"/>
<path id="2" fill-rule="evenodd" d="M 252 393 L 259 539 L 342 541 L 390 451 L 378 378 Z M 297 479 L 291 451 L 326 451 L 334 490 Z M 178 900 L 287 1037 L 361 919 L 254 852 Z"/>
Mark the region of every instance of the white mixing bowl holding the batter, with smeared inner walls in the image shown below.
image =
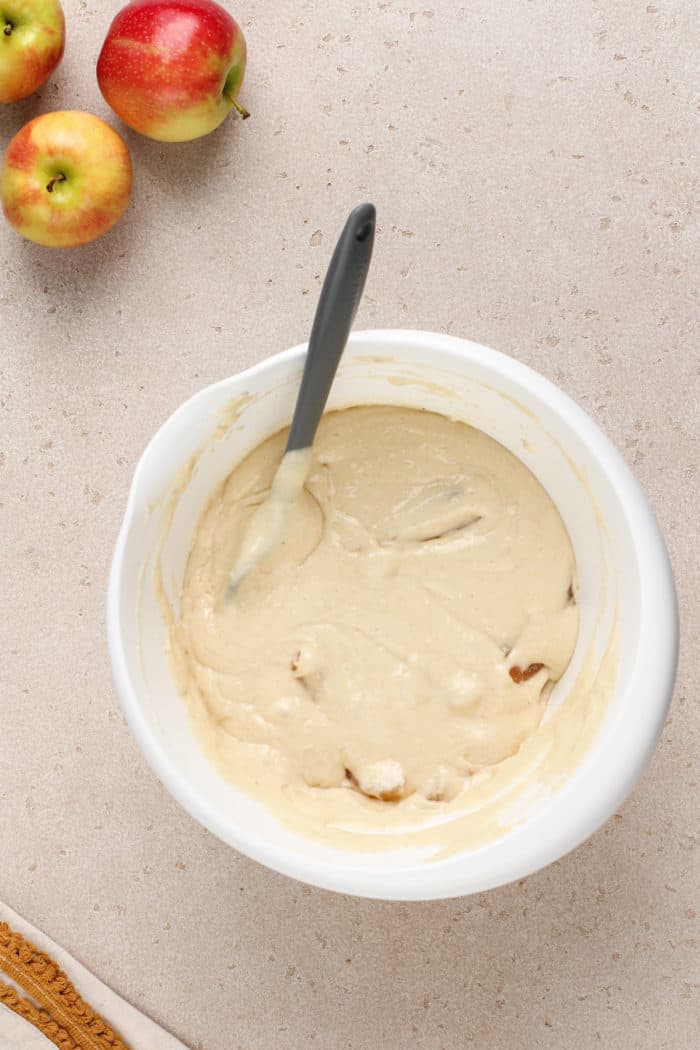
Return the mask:
<path id="1" fill-rule="evenodd" d="M 418 850 L 340 850 L 302 838 L 210 764 L 172 684 L 152 579 L 158 546 L 176 603 L 193 530 L 214 486 L 291 421 L 305 346 L 200 391 L 161 427 L 136 468 L 107 603 L 122 706 L 163 783 L 200 823 L 249 857 L 328 889 L 427 900 L 488 889 L 556 860 L 607 820 L 657 742 L 674 685 L 678 624 L 666 550 L 639 485 L 616 449 L 560 390 L 503 354 L 423 332 L 354 334 L 330 408 L 423 407 L 480 427 L 517 455 L 559 508 L 576 554 L 579 639 L 567 686 L 587 653 L 618 639 L 617 677 L 582 762 L 517 826 L 430 861 Z M 203 450 L 204 449 L 204 450 Z M 175 489 L 182 489 L 176 500 Z"/>

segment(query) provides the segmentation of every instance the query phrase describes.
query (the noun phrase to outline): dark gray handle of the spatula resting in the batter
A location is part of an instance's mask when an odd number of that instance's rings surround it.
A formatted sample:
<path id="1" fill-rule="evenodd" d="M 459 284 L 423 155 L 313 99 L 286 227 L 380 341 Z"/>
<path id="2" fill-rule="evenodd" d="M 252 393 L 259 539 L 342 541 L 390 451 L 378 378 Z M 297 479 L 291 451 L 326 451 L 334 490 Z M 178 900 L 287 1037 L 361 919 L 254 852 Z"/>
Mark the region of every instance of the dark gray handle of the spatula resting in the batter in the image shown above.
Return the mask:
<path id="1" fill-rule="evenodd" d="M 367 278 L 376 217 L 373 204 L 359 205 L 336 245 L 311 330 L 288 452 L 309 448 L 314 442 Z"/>

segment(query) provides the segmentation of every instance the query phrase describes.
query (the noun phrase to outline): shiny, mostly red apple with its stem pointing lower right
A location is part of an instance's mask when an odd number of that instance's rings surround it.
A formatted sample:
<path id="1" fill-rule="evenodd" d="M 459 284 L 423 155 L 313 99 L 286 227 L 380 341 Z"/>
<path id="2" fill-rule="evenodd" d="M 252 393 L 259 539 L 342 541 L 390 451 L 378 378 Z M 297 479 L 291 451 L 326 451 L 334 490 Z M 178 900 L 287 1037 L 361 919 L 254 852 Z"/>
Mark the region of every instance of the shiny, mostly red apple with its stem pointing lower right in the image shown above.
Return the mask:
<path id="1" fill-rule="evenodd" d="M 134 131 L 188 142 L 217 128 L 246 71 L 246 38 L 213 0 L 133 0 L 115 17 L 98 59 L 107 103 Z"/>

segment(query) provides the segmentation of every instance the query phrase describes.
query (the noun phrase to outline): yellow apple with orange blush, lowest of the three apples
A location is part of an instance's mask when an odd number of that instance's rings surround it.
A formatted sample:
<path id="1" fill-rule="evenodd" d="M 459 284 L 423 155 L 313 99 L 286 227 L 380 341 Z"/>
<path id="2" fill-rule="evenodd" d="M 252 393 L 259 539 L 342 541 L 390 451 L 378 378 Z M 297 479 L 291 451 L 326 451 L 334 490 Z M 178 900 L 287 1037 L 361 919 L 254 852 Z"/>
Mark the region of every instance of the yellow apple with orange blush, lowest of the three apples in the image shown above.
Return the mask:
<path id="1" fill-rule="evenodd" d="M 92 113 L 44 113 L 7 146 L 2 208 L 10 226 L 39 245 L 73 248 L 101 237 L 130 195 L 129 151 Z"/>

